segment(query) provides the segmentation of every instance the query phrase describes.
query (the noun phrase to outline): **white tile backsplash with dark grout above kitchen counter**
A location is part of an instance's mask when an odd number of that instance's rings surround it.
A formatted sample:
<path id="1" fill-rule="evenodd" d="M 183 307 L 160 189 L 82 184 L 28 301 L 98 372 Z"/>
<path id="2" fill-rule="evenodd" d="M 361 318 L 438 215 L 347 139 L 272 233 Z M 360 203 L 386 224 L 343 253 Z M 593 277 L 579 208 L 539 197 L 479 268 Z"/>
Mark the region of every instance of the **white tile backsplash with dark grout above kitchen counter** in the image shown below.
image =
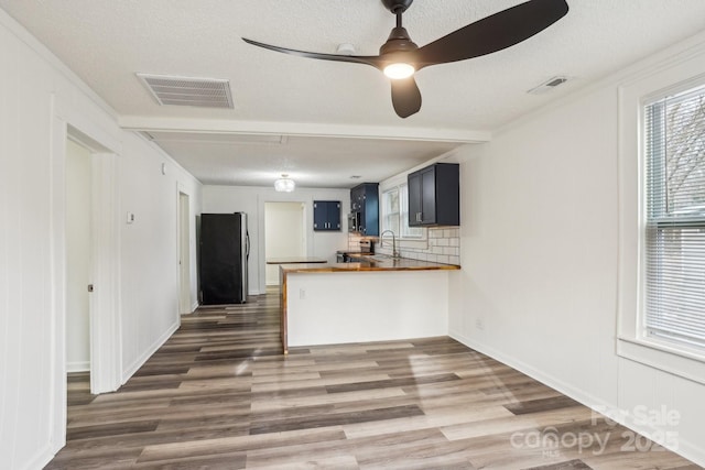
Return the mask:
<path id="1" fill-rule="evenodd" d="M 412 260 L 433 261 L 444 264 L 460 264 L 460 229 L 458 227 L 432 227 L 427 230 L 426 240 L 402 240 L 399 239 L 397 244 L 402 258 Z M 350 250 L 359 248 L 359 234 L 350 233 L 348 237 L 348 245 Z M 391 239 L 384 237 L 384 247 L 380 248 L 377 237 L 373 238 L 375 252 L 383 254 L 392 254 Z"/>

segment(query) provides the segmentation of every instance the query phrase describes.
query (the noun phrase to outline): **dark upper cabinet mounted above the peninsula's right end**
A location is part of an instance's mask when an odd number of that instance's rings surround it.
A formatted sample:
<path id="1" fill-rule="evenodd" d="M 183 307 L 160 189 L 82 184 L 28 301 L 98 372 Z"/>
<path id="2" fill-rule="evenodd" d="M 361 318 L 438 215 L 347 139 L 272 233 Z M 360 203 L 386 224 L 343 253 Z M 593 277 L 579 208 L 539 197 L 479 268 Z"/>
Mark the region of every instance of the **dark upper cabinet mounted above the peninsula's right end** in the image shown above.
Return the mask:
<path id="1" fill-rule="evenodd" d="M 409 227 L 460 225 L 459 168 L 434 163 L 409 174 Z"/>

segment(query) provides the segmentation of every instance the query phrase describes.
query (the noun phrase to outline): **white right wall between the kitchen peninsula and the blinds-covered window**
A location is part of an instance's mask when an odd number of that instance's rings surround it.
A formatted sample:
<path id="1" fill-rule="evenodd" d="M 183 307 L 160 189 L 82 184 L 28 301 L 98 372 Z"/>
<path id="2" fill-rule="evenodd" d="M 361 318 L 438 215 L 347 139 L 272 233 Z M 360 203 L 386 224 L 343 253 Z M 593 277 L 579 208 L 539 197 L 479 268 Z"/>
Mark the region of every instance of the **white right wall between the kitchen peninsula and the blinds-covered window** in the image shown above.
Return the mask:
<path id="1" fill-rule="evenodd" d="M 686 46 L 692 41 L 464 149 L 463 270 L 449 330 L 587 405 L 677 411 L 679 426 L 662 429 L 705 464 L 705 386 L 616 353 L 618 87 Z M 705 54 L 698 61 L 703 74 Z"/>

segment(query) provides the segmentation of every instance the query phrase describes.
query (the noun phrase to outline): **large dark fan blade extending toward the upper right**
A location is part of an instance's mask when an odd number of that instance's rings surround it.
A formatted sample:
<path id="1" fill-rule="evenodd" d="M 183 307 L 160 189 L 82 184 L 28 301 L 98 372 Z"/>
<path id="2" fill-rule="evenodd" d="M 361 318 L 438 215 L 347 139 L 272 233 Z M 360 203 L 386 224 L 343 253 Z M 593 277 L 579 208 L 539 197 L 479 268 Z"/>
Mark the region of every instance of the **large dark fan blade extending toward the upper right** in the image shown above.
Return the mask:
<path id="1" fill-rule="evenodd" d="M 460 28 L 421 47 L 417 69 L 465 61 L 518 44 L 568 12 L 565 0 L 530 0 Z"/>

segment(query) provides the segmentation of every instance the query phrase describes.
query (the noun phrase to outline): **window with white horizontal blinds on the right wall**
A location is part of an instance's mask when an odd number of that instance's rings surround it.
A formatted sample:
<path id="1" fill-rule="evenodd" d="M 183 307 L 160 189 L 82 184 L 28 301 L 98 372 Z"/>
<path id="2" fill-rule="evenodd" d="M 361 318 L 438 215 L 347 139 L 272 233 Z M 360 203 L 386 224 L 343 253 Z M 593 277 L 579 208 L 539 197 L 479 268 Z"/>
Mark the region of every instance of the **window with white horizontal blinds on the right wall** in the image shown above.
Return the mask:
<path id="1" fill-rule="evenodd" d="M 705 348 L 705 87 L 643 112 L 642 335 Z"/>

